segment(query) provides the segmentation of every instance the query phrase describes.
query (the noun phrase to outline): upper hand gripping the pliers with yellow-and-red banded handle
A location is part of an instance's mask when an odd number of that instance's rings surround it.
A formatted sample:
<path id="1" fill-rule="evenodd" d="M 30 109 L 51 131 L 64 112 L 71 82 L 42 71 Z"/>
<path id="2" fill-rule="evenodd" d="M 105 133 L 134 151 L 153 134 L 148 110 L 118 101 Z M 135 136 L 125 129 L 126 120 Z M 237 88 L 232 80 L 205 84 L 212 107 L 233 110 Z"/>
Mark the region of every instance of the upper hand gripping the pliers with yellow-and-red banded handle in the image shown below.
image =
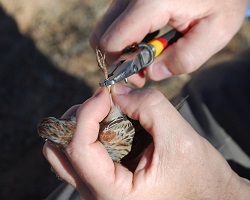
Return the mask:
<path id="1" fill-rule="evenodd" d="M 141 42 L 148 33 L 167 24 L 184 33 L 144 73 L 130 78 L 140 87 L 145 83 L 145 74 L 157 81 L 200 67 L 239 30 L 247 3 L 248 0 L 114 0 L 94 29 L 90 44 L 108 52 L 110 64 L 126 46 Z"/>

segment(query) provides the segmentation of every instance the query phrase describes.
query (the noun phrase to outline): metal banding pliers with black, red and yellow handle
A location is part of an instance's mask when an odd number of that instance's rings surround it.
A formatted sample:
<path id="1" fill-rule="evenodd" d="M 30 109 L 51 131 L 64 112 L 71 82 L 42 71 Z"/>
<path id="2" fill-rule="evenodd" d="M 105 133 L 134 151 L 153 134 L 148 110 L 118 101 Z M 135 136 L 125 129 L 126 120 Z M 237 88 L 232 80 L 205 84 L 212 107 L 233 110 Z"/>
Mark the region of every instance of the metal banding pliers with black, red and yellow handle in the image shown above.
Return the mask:
<path id="1" fill-rule="evenodd" d="M 110 86 L 121 80 L 127 81 L 129 76 L 150 65 L 154 58 L 181 36 L 182 33 L 172 29 L 149 43 L 141 42 L 125 48 L 119 59 L 108 67 L 108 78 L 103 76 L 100 86 Z"/>

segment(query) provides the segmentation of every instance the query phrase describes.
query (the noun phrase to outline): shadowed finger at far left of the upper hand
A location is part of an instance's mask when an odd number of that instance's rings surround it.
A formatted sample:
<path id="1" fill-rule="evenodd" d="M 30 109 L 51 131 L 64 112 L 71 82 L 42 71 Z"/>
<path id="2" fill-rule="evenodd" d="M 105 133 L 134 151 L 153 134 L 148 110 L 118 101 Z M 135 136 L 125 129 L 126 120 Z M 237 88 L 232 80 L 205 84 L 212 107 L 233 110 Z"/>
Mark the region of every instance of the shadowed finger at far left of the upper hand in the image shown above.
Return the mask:
<path id="1" fill-rule="evenodd" d="M 100 22 L 95 27 L 89 38 L 90 45 L 93 49 L 100 46 L 100 39 L 109 28 L 109 26 L 116 20 L 116 18 L 125 10 L 129 0 L 113 0 L 110 4 L 106 14 L 102 17 Z"/>

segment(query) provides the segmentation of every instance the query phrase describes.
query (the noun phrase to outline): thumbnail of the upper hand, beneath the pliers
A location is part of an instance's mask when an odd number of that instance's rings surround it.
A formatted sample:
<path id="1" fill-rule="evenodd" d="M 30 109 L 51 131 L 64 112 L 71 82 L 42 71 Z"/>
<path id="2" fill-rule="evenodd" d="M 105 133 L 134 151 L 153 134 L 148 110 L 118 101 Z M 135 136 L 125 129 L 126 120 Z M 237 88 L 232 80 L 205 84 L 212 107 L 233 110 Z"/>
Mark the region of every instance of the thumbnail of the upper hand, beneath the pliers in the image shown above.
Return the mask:
<path id="1" fill-rule="evenodd" d="M 155 80 L 162 80 L 164 78 L 170 77 L 173 74 L 168 70 L 164 62 L 159 61 L 153 64 L 152 74 Z"/>

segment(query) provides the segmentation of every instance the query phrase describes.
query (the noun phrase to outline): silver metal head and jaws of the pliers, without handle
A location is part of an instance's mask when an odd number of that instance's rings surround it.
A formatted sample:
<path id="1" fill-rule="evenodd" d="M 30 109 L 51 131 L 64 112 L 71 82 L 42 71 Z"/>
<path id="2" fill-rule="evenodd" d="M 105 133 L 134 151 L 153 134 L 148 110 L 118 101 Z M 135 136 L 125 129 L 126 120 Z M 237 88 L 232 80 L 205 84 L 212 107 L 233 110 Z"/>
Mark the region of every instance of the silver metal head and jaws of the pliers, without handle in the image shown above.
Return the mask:
<path id="1" fill-rule="evenodd" d="M 154 60 L 154 48 L 150 44 L 139 43 L 126 48 L 125 53 L 108 67 L 108 79 L 101 78 L 100 86 L 110 86 L 138 73 Z"/>

